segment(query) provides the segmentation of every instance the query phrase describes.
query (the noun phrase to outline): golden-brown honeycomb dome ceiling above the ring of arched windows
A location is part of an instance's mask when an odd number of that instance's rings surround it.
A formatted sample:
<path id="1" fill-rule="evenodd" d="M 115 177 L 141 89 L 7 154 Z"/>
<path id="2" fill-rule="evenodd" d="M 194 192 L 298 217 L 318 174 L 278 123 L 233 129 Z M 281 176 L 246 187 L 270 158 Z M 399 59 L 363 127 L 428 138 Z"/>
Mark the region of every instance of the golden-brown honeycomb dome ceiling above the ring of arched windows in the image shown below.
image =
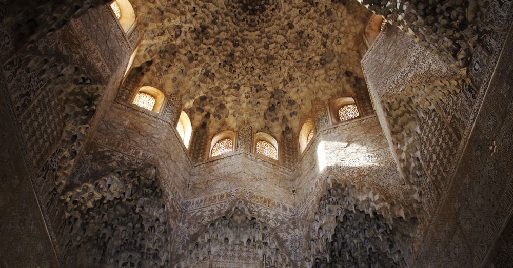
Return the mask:
<path id="1" fill-rule="evenodd" d="M 312 103 L 366 91 L 358 48 L 370 12 L 345 2 L 134 3 L 153 14 L 134 67 L 181 97 L 193 127 L 298 133 Z"/>

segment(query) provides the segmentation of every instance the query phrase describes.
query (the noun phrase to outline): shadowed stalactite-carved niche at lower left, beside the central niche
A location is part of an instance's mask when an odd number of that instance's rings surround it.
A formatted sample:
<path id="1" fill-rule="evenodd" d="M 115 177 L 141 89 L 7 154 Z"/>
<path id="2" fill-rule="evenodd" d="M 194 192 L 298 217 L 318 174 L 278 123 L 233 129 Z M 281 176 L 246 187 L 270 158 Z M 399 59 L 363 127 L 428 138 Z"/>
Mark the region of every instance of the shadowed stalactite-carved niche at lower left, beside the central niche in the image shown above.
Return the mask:
<path id="1" fill-rule="evenodd" d="M 166 208 L 154 168 L 116 172 L 66 193 L 64 263 L 167 267 Z"/>

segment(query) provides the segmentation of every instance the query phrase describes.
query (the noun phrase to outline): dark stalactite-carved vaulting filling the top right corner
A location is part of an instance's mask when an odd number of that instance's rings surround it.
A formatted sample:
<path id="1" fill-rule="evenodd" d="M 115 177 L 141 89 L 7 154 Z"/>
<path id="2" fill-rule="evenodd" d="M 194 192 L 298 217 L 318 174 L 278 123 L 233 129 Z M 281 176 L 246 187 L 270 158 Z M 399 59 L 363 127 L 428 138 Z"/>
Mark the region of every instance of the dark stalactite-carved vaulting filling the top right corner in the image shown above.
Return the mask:
<path id="1" fill-rule="evenodd" d="M 510 15 L 511 1 L 358 0 L 480 87 Z M 507 26 L 508 27 L 508 26 Z M 506 27 L 506 28 L 507 28 Z M 468 75 L 468 76 L 467 76 Z"/>

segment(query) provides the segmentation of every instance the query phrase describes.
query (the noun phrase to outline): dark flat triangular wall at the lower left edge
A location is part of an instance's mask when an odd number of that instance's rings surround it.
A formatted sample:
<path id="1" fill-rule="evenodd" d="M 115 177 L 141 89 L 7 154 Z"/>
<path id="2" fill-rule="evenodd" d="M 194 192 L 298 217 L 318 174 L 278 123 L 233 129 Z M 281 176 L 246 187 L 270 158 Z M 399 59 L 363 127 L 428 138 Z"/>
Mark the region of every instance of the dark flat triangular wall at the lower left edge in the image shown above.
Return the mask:
<path id="1" fill-rule="evenodd" d="M 3 140 L 0 144 L 0 266 L 55 267 L 57 257 L 32 188 L 33 177 L 25 166 L 22 148 L 17 142 L 21 137 L 15 132 L 12 121 L 15 118 L 10 116 L 13 111 L 9 110 L 5 99 L 9 95 L 5 92 L 4 77 L 0 77 L 0 83 L 0 138 Z"/>

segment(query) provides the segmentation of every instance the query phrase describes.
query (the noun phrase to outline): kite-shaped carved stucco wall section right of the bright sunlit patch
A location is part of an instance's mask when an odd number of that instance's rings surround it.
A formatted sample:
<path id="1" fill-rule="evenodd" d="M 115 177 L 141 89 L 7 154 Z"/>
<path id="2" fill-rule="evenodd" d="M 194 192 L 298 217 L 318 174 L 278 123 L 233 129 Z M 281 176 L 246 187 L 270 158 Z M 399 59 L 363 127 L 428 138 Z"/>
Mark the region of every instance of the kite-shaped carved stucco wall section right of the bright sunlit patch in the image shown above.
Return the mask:
<path id="1" fill-rule="evenodd" d="M 393 49 L 399 46 L 405 50 Z M 475 89 L 392 26 L 378 36 L 362 67 L 392 155 L 411 189 L 412 213 L 422 218 L 424 233 L 453 174 L 455 162 L 450 159 L 459 158 Z M 420 239 L 416 243 L 419 246 Z"/>

